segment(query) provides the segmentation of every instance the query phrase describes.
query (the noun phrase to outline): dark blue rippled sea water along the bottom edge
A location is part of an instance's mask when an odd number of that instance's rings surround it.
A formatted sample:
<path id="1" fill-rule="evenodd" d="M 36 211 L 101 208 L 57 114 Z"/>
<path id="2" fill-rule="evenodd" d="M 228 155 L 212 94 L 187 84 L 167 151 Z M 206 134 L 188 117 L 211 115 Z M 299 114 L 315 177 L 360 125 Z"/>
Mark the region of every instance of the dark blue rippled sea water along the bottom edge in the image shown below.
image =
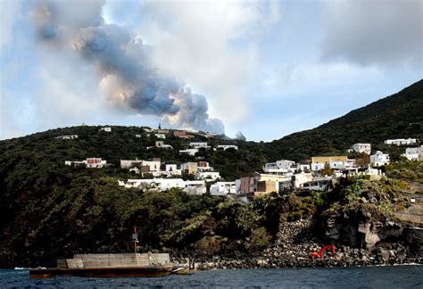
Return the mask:
<path id="1" fill-rule="evenodd" d="M 423 266 L 216 269 L 153 278 L 29 278 L 0 269 L 1 288 L 423 288 Z"/>

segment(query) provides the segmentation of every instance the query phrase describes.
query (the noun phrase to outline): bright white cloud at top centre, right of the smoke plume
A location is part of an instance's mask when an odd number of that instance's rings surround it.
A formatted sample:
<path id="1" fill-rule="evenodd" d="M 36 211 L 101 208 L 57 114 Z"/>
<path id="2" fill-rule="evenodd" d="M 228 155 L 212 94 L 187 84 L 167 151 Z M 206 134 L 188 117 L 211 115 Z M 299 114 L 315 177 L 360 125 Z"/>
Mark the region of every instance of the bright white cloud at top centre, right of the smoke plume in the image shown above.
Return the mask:
<path id="1" fill-rule="evenodd" d="M 260 67 L 255 38 L 278 22 L 278 2 L 147 1 L 141 10 L 138 33 L 154 46 L 153 62 L 206 95 L 211 115 L 244 120 L 245 84 Z"/>

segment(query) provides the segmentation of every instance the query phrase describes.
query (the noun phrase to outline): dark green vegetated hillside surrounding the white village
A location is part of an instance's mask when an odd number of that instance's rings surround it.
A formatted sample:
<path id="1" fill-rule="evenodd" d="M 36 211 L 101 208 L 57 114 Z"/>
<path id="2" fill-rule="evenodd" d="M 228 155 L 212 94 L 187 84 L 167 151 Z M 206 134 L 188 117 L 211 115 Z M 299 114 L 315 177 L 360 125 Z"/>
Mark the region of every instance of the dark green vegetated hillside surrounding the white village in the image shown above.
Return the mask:
<path id="1" fill-rule="evenodd" d="M 266 161 L 281 158 L 298 161 L 316 154 L 344 153 L 359 141 L 369 141 L 385 150 L 381 145 L 385 138 L 423 139 L 422 92 L 420 80 L 396 95 L 319 128 L 271 143 L 228 140 L 223 136 L 207 138 L 200 134 L 185 140 L 170 134 L 164 142 L 172 145 L 173 150 L 147 150 L 157 139 L 147 136 L 143 128 L 112 127 L 112 132 L 107 133 L 99 131 L 100 127 L 89 126 L 56 128 L 1 141 L 0 266 L 52 264 L 55 258 L 69 257 L 75 252 L 129 252 L 128 236 L 134 225 L 140 228 L 143 250 L 166 247 L 200 255 L 250 253 L 277 242 L 286 221 L 322 216 L 325 218 L 320 218 L 321 222 L 342 224 L 342 216 L 348 214 L 353 220 L 356 208 L 362 205 L 360 200 L 371 199 L 373 195 L 377 202 L 367 203 L 362 209 L 377 211 L 374 215 L 377 222 L 385 218 L 385 213 L 406 207 L 402 188 L 407 185 L 401 181 L 375 185 L 352 180 L 332 194 L 272 194 L 243 204 L 221 197 L 188 196 L 176 189 L 164 193 L 125 189 L 118 186 L 117 180 L 134 176 L 120 169 L 120 160 L 160 157 L 163 162 L 179 164 L 196 161 L 194 156 L 178 153 L 190 141 L 207 141 L 213 146 L 238 145 L 239 150 L 201 150 L 197 154 L 220 171 L 223 178 L 234 180 L 260 170 Z M 62 135 L 79 138 L 55 138 Z M 87 157 L 102 157 L 111 166 L 85 169 L 64 165 L 64 161 Z M 392 170 L 388 176 L 393 178 L 405 176 L 408 181 L 423 178 L 421 163 Z M 336 206 L 340 203 L 348 204 L 344 215 L 334 215 L 332 212 L 339 211 Z M 378 208 L 387 212 L 379 212 Z M 326 215 L 320 215 L 325 211 Z M 304 256 L 309 249 L 302 249 Z"/>

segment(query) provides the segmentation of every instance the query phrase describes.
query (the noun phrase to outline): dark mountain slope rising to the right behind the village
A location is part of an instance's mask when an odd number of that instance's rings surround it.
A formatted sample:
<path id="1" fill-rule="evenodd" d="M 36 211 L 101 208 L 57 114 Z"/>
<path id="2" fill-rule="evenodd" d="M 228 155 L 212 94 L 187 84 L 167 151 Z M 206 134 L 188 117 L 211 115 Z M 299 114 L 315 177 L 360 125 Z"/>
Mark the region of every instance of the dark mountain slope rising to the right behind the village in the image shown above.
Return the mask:
<path id="1" fill-rule="evenodd" d="M 265 145 L 270 157 L 305 160 L 316 154 L 344 153 L 355 143 L 384 148 L 387 138 L 423 139 L 423 80 L 318 128 Z"/>

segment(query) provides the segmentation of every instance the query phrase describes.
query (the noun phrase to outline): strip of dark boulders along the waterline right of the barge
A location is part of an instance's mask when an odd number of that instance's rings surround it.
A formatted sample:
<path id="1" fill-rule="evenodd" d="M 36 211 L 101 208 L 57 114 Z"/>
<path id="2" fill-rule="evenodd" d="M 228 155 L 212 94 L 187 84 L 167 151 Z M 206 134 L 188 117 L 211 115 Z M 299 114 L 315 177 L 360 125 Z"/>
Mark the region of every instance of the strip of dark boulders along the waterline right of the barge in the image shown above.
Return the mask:
<path id="1" fill-rule="evenodd" d="M 402 242 L 377 244 L 371 250 L 339 246 L 336 255 L 331 252 L 323 258 L 311 258 L 322 244 L 307 230 L 311 220 L 283 222 L 278 239 L 262 251 L 229 252 L 224 255 L 207 256 L 199 252 L 180 252 L 188 256 L 189 263 L 199 270 L 232 268 L 316 268 L 357 267 L 399 264 L 423 264 L 423 256 L 413 252 Z M 305 241 L 308 240 L 308 241 Z M 173 262 L 187 266 L 187 258 L 174 257 Z M 193 265 L 192 265 L 193 266 Z"/>

